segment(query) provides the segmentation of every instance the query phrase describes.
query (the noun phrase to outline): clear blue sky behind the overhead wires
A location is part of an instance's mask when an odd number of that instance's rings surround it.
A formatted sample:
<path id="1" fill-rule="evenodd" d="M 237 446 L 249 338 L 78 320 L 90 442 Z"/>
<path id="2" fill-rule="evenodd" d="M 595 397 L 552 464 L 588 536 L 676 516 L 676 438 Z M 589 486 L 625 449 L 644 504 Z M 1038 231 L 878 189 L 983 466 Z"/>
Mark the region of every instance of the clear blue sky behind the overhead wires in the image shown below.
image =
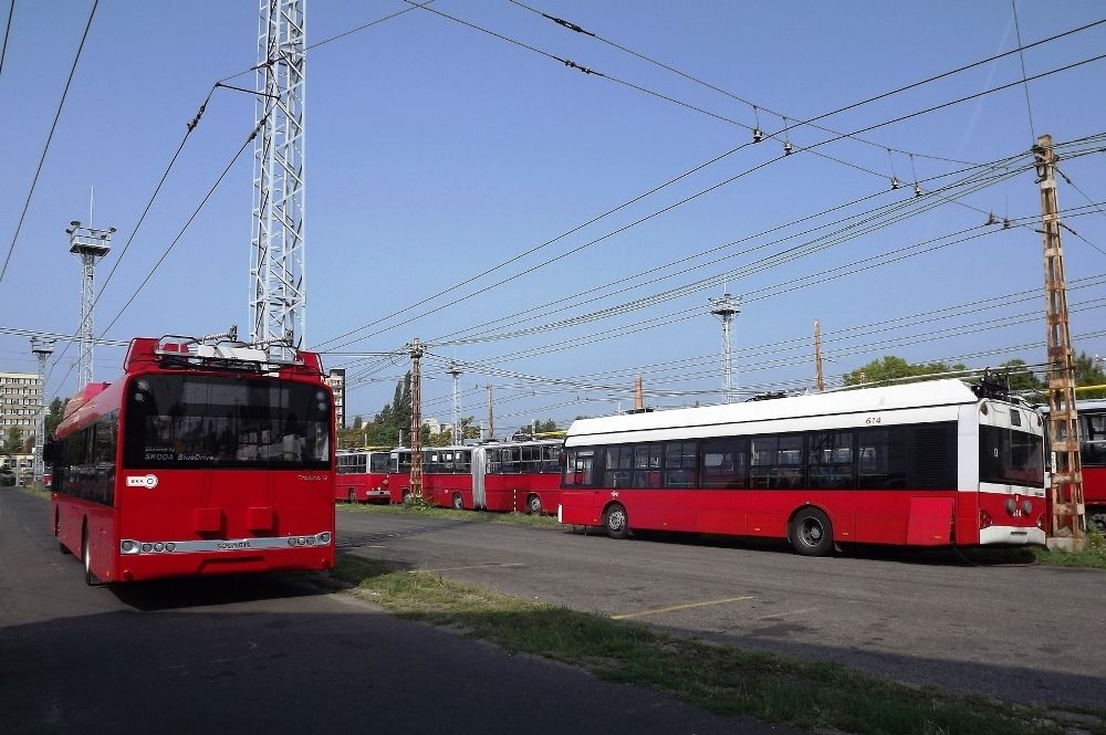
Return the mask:
<path id="1" fill-rule="evenodd" d="M 463 414 L 482 419 L 483 387 L 497 387 L 500 432 L 535 418 L 566 422 L 611 412 L 619 401 L 627 408 L 626 391 L 637 374 L 656 391 L 654 405 L 718 401 L 720 327 L 707 313 L 707 298 L 723 287 L 745 298 L 734 323 L 735 370 L 750 390 L 813 382 L 815 319 L 822 322 L 827 376 L 887 354 L 973 367 L 1012 357 L 1044 360 L 1041 238 L 1025 219 L 1039 213 L 1039 195 L 1033 172 L 1016 168 L 1032 144 L 1023 87 L 881 125 L 1021 80 L 1016 54 L 818 122 L 838 133 L 878 126 L 859 136 L 864 141 L 841 139 L 807 151 L 836 136 L 796 127 L 787 134 L 796 153 L 785 158 L 779 140 L 744 146 L 489 276 L 390 316 L 741 146 L 750 140 L 742 126 L 754 125 L 757 116 L 765 132 L 780 130 L 781 117 L 766 109 L 791 120 L 811 118 L 1018 45 L 1009 0 L 526 4 L 728 94 L 508 0 L 438 0 L 430 7 L 606 76 L 583 74 L 424 10 L 311 50 L 306 342 L 330 350 L 327 367 L 348 370 L 351 416 L 379 410 L 406 369 L 403 357 L 352 353 L 401 350 L 415 336 L 431 344 L 424 414 L 441 420 L 449 418 L 449 359 L 471 364 L 460 380 Z M 91 0 L 15 3 L 0 72 L 8 101 L 0 123 L 4 253 L 91 7 Z M 309 0 L 309 44 L 404 7 Z M 0 13 L 7 21 L 6 7 Z M 1018 2 L 1023 43 L 1103 18 L 1103 6 L 1093 1 Z M 95 187 L 94 224 L 118 228 L 113 254 L 97 267 L 102 284 L 212 83 L 257 63 L 255 32 L 253 2 L 101 1 L 0 282 L 0 327 L 75 329 L 80 269 L 67 252 L 67 223 L 87 221 Z M 1104 48 L 1106 24 L 1025 51 L 1025 72 L 1074 64 Z M 1048 133 L 1057 144 L 1106 132 L 1104 81 L 1106 61 L 1030 82 L 1032 132 Z M 236 82 L 249 86 L 252 78 Z M 97 335 L 124 308 L 253 123 L 250 95 L 215 94 L 97 304 Z M 1086 153 L 1094 145 L 1070 150 Z M 1008 159 L 1004 169 L 973 167 Z M 1074 185 L 1062 182 L 1061 207 L 1084 207 L 1065 217 L 1081 235 L 1064 233 L 1067 279 L 1081 286 L 1070 294 L 1075 336 L 1097 335 L 1103 321 L 1096 300 L 1106 295 L 1104 281 L 1095 276 L 1106 274 L 1104 161 L 1103 153 L 1061 161 Z M 893 191 L 891 176 L 904 187 Z M 950 188 L 969 176 L 977 177 L 980 186 L 971 188 L 978 190 Z M 927 196 L 912 198 L 916 180 Z M 248 329 L 251 201 L 247 154 L 105 336 L 204 334 L 230 324 Z M 831 208 L 841 209 L 806 219 Z M 863 231 L 867 227 L 857 222 L 877 208 L 902 217 Z M 988 212 L 1031 227 L 983 231 Z M 846 217 L 856 218 L 847 238 L 815 240 L 841 229 L 830 223 Z M 802 234 L 820 227 L 825 229 Z M 760 234 L 769 230 L 775 232 Z M 958 232 L 979 237 L 852 272 L 865 259 L 927 241 L 947 243 L 959 238 L 941 238 Z M 724 246 L 737 241 L 743 242 Z M 832 246 L 787 262 L 764 261 L 785 248 L 818 243 Z M 711 256 L 692 258 L 714 249 Z M 691 260 L 623 281 L 681 259 Z M 674 275 L 689 265 L 701 266 Z M 827 269 L 846 275 L 778 293 L 780 284 Z M 662 275 L 669 277 L 645 283 Z M 689 285 L 703 280 L 711 281 Z M 618 281 L 620 286 L 557 304 Z M 657 303 L 659 294 L 680 286 Z M 611 294 L 616 288 L 629 290 Z M 943 311 L 972 303 L 995 307 Z M 626 306 L 614 315 L 580 318 L 619 305 Z M 887 324 L 901 317 L 914 321 Z M 572 324 L 556 326 L 561 321 Z M 489 322 L 494 324 L 468 332 Z M 334 339 L 371 324 L 354 335 L 357 340 Z M 511 336 L 535 326 L 544 328 Z M 461 333 L 484 339 L 444 339 Z M 1075 348 L 1106 354 L 1106 337 L 1077 338 Z M 118 375 L 123 351 L 98 348 L 96 379 Z M 52 365 L 51 396 L 73 391 L 74 358 L 70 349 Z M 0 335 L 0 369 L 34 370 L 25 337 Z"/>

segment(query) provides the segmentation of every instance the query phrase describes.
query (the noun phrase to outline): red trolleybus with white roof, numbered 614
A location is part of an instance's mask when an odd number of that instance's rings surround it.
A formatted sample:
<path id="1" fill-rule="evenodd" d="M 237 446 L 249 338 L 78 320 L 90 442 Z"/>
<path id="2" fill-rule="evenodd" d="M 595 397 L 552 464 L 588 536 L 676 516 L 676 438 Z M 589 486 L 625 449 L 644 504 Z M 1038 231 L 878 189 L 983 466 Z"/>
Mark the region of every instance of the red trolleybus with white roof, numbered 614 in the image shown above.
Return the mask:
<path id="1" fill-rule="evenodd" d="M 1043 544 L 1043 421 L 960 380 L 575 421 L 562 523 L 836 543 Z"/>

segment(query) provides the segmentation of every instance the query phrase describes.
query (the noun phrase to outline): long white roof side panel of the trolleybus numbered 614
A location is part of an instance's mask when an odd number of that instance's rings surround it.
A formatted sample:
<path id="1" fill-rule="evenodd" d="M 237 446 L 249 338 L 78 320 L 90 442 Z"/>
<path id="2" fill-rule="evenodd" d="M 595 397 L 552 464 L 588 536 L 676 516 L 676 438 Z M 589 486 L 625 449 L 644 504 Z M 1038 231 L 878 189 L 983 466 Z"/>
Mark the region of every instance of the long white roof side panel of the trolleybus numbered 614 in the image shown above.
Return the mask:
<path id="1" fill-rule="evenodd" d="M 568 442 L 584 437 L 650 430 L 716 427 L 778 419 L 801 419 L 911 408 L 977 403 L 972 389 L 961 380 L 930 380 L 883 388 L 860 388 L 811 396 L 722 403 L 698 408 L 653 411 L 595 419 L 577 419 L 568 428 Z M 573 442 L 572 440 L 577 441 Z"/>

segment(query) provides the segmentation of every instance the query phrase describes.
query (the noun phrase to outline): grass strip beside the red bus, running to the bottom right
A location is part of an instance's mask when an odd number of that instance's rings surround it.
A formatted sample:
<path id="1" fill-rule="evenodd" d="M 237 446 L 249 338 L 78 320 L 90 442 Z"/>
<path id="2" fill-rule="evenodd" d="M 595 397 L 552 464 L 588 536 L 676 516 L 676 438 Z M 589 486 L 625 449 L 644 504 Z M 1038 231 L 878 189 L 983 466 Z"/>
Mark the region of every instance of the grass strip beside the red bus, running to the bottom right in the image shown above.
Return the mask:
<path id="1" fill-rule="evenodd" d="M 356 556 L 340 557 L 333 576 L 400 617 L 580 665 L 607 681 L 649 686 L 716 713 L 858 735 L 1041 735 L 1072 725 L 1106 734 L 1106 713 L 1045 712 L 905 686 L 835 663 L 671 636 Z"/>

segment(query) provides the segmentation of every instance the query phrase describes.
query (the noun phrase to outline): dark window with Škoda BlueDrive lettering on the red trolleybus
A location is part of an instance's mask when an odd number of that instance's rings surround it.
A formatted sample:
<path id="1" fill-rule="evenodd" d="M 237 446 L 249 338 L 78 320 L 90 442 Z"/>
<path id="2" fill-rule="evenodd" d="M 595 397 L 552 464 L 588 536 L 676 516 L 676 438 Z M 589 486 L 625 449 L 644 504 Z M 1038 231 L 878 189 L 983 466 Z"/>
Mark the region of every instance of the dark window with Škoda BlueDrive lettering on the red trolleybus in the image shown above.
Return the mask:
<path id="1" fill-rule="evenodd" d="M 330 468 L 330 396 L 264 378 L 147 375 L 126 396 L 128 469 Z"/>

